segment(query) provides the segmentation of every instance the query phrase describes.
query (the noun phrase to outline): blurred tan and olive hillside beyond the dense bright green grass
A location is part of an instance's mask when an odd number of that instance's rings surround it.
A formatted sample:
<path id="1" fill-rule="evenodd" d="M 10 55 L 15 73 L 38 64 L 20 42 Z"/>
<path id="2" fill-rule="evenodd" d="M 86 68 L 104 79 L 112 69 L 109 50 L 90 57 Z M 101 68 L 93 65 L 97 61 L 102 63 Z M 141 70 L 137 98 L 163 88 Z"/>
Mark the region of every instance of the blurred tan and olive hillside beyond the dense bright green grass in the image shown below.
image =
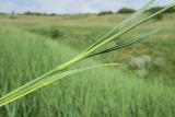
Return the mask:
<path id="1" fill-rule="evenodd" d="M 75 50 L 83 50 L 107 31 L 130 14 L 106 15 L 0 15 L 0 26 L 16 27 L 67 45 Z M 145 16 L 148 14 L 143 14 Z M 175 14 L 166 13 L 162 20 L 151 20 L 126 36 L 112 42 L 107 47 L 133 39 L 151 30 L 165 27 L 164 32 L 149 37 L 141 44 L 100 56 L 103 62 L 122 62 L 126 71 L 141 79 L 159 79 L 165 84 L 174 85 L 175 79 Z"/>

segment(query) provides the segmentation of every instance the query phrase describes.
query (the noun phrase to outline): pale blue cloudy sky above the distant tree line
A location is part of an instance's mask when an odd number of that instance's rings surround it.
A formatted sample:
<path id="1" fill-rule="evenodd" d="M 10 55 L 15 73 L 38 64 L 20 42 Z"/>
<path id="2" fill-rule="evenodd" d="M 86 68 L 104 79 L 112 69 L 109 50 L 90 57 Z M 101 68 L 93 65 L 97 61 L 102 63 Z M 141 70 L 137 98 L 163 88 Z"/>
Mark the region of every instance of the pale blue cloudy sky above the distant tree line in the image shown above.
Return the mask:
<path id="1" fill-rule="evenodd" d="M 0 12 L 37 11 L 47 13 L 86 13 L 138 9 L 148 0 L 0 0 Z M 175 0 L 156 0 L 153 5 L 166 5 Z"/>

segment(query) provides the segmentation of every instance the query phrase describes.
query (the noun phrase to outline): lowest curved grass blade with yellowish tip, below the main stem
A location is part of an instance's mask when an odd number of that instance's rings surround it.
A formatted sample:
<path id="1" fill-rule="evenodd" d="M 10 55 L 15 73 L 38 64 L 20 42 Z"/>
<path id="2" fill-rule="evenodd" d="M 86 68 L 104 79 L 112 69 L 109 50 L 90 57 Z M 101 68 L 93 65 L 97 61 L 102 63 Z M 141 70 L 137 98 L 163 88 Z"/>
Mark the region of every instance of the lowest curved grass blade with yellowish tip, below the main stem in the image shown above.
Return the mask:
<path id="1" fill-rule="evenodd" d="M 8 94 L 8 96 L 2 96 L 0 98 L 0 106 L 3 106 L 10 102 L 13 102 L 24 95 L 27 95 L 43 86 L 46 86 L 57 80 L 60 80 L 60 79 L 63 79 L 68 75 L 71 75 L 71 74 L 77 74 L 77 73 L 80 73 L 82 71 L 86 71 L 86 70 L 91 70 L 91 69 L 96 69 L 96 68 L 100 68 L 100 67 L 115 67 L 115 66 L 118 66 L 119 63 L 106 63 L 106 65 L 98 65 L 98 66 L 93 66 L 93 67 L 88 67 L 88 68 L 82 68 L 82 69 L 75 69 L 75 70 L 69 70 L 69 71 L 65 71 L 65 72 L 61 72 L 61 73 L 56 73 L 51 77 L 46 77 L 45 79 L 34 83 L 34 84 L 30 84 L 27 86 L 23 86 L 23 89 L 19 87 L 16 89 L 15 91 L 12 91 L 11 94 Z M 14 92 L 14 93 L 13 93 Z"/>

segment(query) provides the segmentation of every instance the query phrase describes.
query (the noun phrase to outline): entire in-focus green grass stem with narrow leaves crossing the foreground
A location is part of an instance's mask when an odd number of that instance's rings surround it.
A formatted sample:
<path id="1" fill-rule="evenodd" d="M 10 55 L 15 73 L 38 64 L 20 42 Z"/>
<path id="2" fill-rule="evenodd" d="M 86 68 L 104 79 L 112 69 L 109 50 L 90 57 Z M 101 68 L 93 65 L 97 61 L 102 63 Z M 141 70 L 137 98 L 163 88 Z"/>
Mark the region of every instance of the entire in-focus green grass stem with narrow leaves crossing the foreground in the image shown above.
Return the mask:
<path id="1" fill-rule="evenodd" d="M 142 23 L 147 22 L 148 20 L 163 13 L 164 11 L 174 8 L 175 4 L 170 4 L 167 7 L 165 7 L 163 10 L 160 10 L 159 12 L 151 14 L 142 20 L 138 20 L 138 17 L 144 12 L 145 9 L 148 9 L 148 7 L 150 7 L 150 4 L 152 4 L 152 2 L 155 0 L 151 0 L 148 4 L 145 4 L 142 9 L 140 9 L 138 12 L 136 12 L 135 14 L 132 14 L 131 16 L 129 16 L 127 20 L 122 21 L 119 25 L 115 26 L 112 31 L 109 31 L 106 35 L 104 35 L 102 38 L 100 38 L 96 43 L 94 43 L 93 45 L 91 45 L 89 48 L 86 48 L 84 51 L 82 51 L 79 56 L 77 56 L 75 58 L 71 59 L 70 61 L 62 63 L 58 67 L 56 67 L 55 69 L 48 71 L 47 73 L 38 77 L 37 79 L 18 87 L 16 90 L 8 93 L 7 95 L 2 96 L 0 98 L 0 106 L 3 106 L 10 102 L 13 102 L 22 96 L 25 96 L 34 91 L 36 91 L 37 89 L 40 89 L 45 85 L 48 85 L 59 79 L 66 78 L 68 75 L 71 74 L 75 74 L 85 70 L 90 70 L 90 69 L 95 69 L 98 67 L 112 67 L 112 66 L 118 66 L 118 63 L 107 63 L 107 65 L 100 65 L 100 66 L 94 66 L 94 67 L 88 67 L 88 68 L 82 68 L 82 69 L 75 69 L 75 70 L 66 70 L 67 68 L 69 68 L 70 66 L 88 59 L 90 57 L 94 57 L 96 55 L 101 55 L 101 54 L 105 54 L 105 52 L 110 52 L 114 51 L 116 49 L 119 48 L 124 48 L 124 47 L 128 47 L 130 45 L 133 45 L 144 38 L 147 38 L 150 35 L 153 35 L 160 31 L 162 31 L 162 28 L 160 30 L 155 30 L 152 31 L 141 37 L 138 37 L 137 39 L 133 39 L 131 42 L 127 42 L 124 43 L 121 45 L 115 46 L 115 47 L 110 47 L 110 48 L 106 48 L 102 51 L 97 51 L 100 48 L 102 48 L 104 45 L 106 45 L 107 43 L 122 36 L 124 34 L 128 33 L 129 31 L 133 30 L 135 27 L 141 25 Z"/>

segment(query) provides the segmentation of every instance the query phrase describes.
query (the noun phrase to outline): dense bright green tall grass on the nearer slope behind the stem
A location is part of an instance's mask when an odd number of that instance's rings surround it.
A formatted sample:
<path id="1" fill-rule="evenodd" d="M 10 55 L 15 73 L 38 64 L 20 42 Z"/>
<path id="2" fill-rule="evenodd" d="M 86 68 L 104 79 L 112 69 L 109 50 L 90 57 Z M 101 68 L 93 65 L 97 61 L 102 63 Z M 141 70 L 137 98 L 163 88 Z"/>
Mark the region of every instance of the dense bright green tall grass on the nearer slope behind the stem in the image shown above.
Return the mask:
<path id="1" fill-rule="evenodd" d="M 78 54 L 70 47 L 19 30 L 1 28 L 0 35 L 1 95 Z M 88 65 L 96 62 L 88 60 L 79 63 L 79 67 Z M 173 117 L 174 91 L 174 86 L 165 86 L 156 81 L 145 82 L 126 73 L 122 67 L 102 68 L 62 79 L 0 107 L 0 116 Z"/>

